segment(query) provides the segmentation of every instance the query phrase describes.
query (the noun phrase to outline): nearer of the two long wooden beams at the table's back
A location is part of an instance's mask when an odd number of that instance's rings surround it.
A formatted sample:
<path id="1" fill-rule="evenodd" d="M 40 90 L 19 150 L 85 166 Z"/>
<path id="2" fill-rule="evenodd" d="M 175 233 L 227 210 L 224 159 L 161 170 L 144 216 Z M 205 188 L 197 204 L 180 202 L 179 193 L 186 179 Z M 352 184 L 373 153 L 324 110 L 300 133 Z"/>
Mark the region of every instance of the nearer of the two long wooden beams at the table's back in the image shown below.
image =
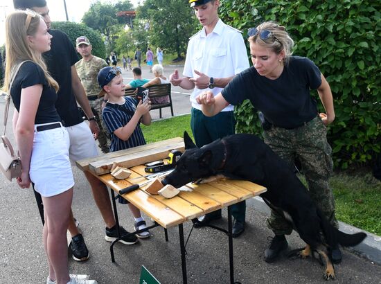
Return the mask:
<path id="1" fill-rule="evenodd" d="M 184 142 L 162 145 L 160 148 L 136 152 L 121 157 L 114 157 L 112 159 L 94 161 L 89 163 L 89 170 L 96 175 L 104 175 L 110 172 L 112 163 L 117 163 L 118 166 L 123 168 L 131 168 L 142 163 L 165 159 L 168 157 L 169 151 L 172 149 L 184 152 Z"/>

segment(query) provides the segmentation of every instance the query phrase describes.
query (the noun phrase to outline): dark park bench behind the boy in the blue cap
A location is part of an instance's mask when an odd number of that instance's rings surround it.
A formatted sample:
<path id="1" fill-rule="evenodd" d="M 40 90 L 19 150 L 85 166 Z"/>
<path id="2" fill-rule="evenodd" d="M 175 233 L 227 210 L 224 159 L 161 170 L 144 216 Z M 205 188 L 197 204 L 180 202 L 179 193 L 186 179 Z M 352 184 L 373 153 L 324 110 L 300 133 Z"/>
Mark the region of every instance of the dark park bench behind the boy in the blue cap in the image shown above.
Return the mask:
<path id="1" fill-rule="evenodd" d="M 170 107 L 170 113 L 173 116 L 172 96 L 170 96 L 170 84 L 160 84 L 148 87 L 150 90 L 150 100 L 152 102 L 151 109 L 159 109 L 161 118 L 161 109 L 163 107 Z M 136 96 L 134 94 L 136 89 L 126 89 L 126 96 Z"/>

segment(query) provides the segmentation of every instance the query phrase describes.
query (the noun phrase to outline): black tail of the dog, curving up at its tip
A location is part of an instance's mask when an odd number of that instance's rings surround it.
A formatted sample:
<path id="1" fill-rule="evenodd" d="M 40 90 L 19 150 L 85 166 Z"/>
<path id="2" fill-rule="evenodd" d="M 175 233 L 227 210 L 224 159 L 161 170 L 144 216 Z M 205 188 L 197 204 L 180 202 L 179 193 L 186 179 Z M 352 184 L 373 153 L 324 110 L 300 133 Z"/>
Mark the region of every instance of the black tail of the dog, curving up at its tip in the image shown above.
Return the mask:
<path id="1" fill-rule="evenodd" d="M 328 222 L 326 216 L 318 209 L 318 214 L 321 218 L 321 227 L 324 231 L 326 237 L 326 242 L 330 247 L 335 247 L 337 244 L 342 245 L 343 247 L 353 247 L 360 244 L 366 238 L 366 233 L 344 233 L 339 231 L 339 229 L 333 227 L 330 222 Z"/>

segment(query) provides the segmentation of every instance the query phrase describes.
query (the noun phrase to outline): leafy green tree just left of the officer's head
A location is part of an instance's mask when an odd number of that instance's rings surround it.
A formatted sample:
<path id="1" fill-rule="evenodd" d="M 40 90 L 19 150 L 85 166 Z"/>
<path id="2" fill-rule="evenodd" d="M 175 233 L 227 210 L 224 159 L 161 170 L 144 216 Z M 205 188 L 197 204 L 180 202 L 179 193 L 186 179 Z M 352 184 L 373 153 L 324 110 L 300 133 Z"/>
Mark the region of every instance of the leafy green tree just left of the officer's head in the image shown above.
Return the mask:
<path id="1" fill-rule="evenodd" d="M 189 37 L 197 30 L 197 19 L 184 0 L 146 0 L 136 11 L 136 22 L 148 28 L 149 43 L 169 53 L 186 53 Z M 141 24 L 140 24 L 141 26 Z"/>

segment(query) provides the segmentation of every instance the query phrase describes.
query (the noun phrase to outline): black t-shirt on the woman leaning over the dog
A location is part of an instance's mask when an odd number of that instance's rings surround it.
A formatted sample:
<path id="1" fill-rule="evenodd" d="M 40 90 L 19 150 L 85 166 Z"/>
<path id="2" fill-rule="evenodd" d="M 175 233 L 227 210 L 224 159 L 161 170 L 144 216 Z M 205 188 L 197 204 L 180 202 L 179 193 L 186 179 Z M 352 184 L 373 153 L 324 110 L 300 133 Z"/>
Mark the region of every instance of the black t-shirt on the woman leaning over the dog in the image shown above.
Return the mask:
<path id="1" fill-rule="evenodd" d="M 260 76 L 254 66 L 242 71 L 222 90 L 231 105 L 249 99 L 270 123 L 294 128 L 317 116 L 310 89 L 321 85 L 319 68 L 305 57 L 292 56 L 276 80 Z"/>

